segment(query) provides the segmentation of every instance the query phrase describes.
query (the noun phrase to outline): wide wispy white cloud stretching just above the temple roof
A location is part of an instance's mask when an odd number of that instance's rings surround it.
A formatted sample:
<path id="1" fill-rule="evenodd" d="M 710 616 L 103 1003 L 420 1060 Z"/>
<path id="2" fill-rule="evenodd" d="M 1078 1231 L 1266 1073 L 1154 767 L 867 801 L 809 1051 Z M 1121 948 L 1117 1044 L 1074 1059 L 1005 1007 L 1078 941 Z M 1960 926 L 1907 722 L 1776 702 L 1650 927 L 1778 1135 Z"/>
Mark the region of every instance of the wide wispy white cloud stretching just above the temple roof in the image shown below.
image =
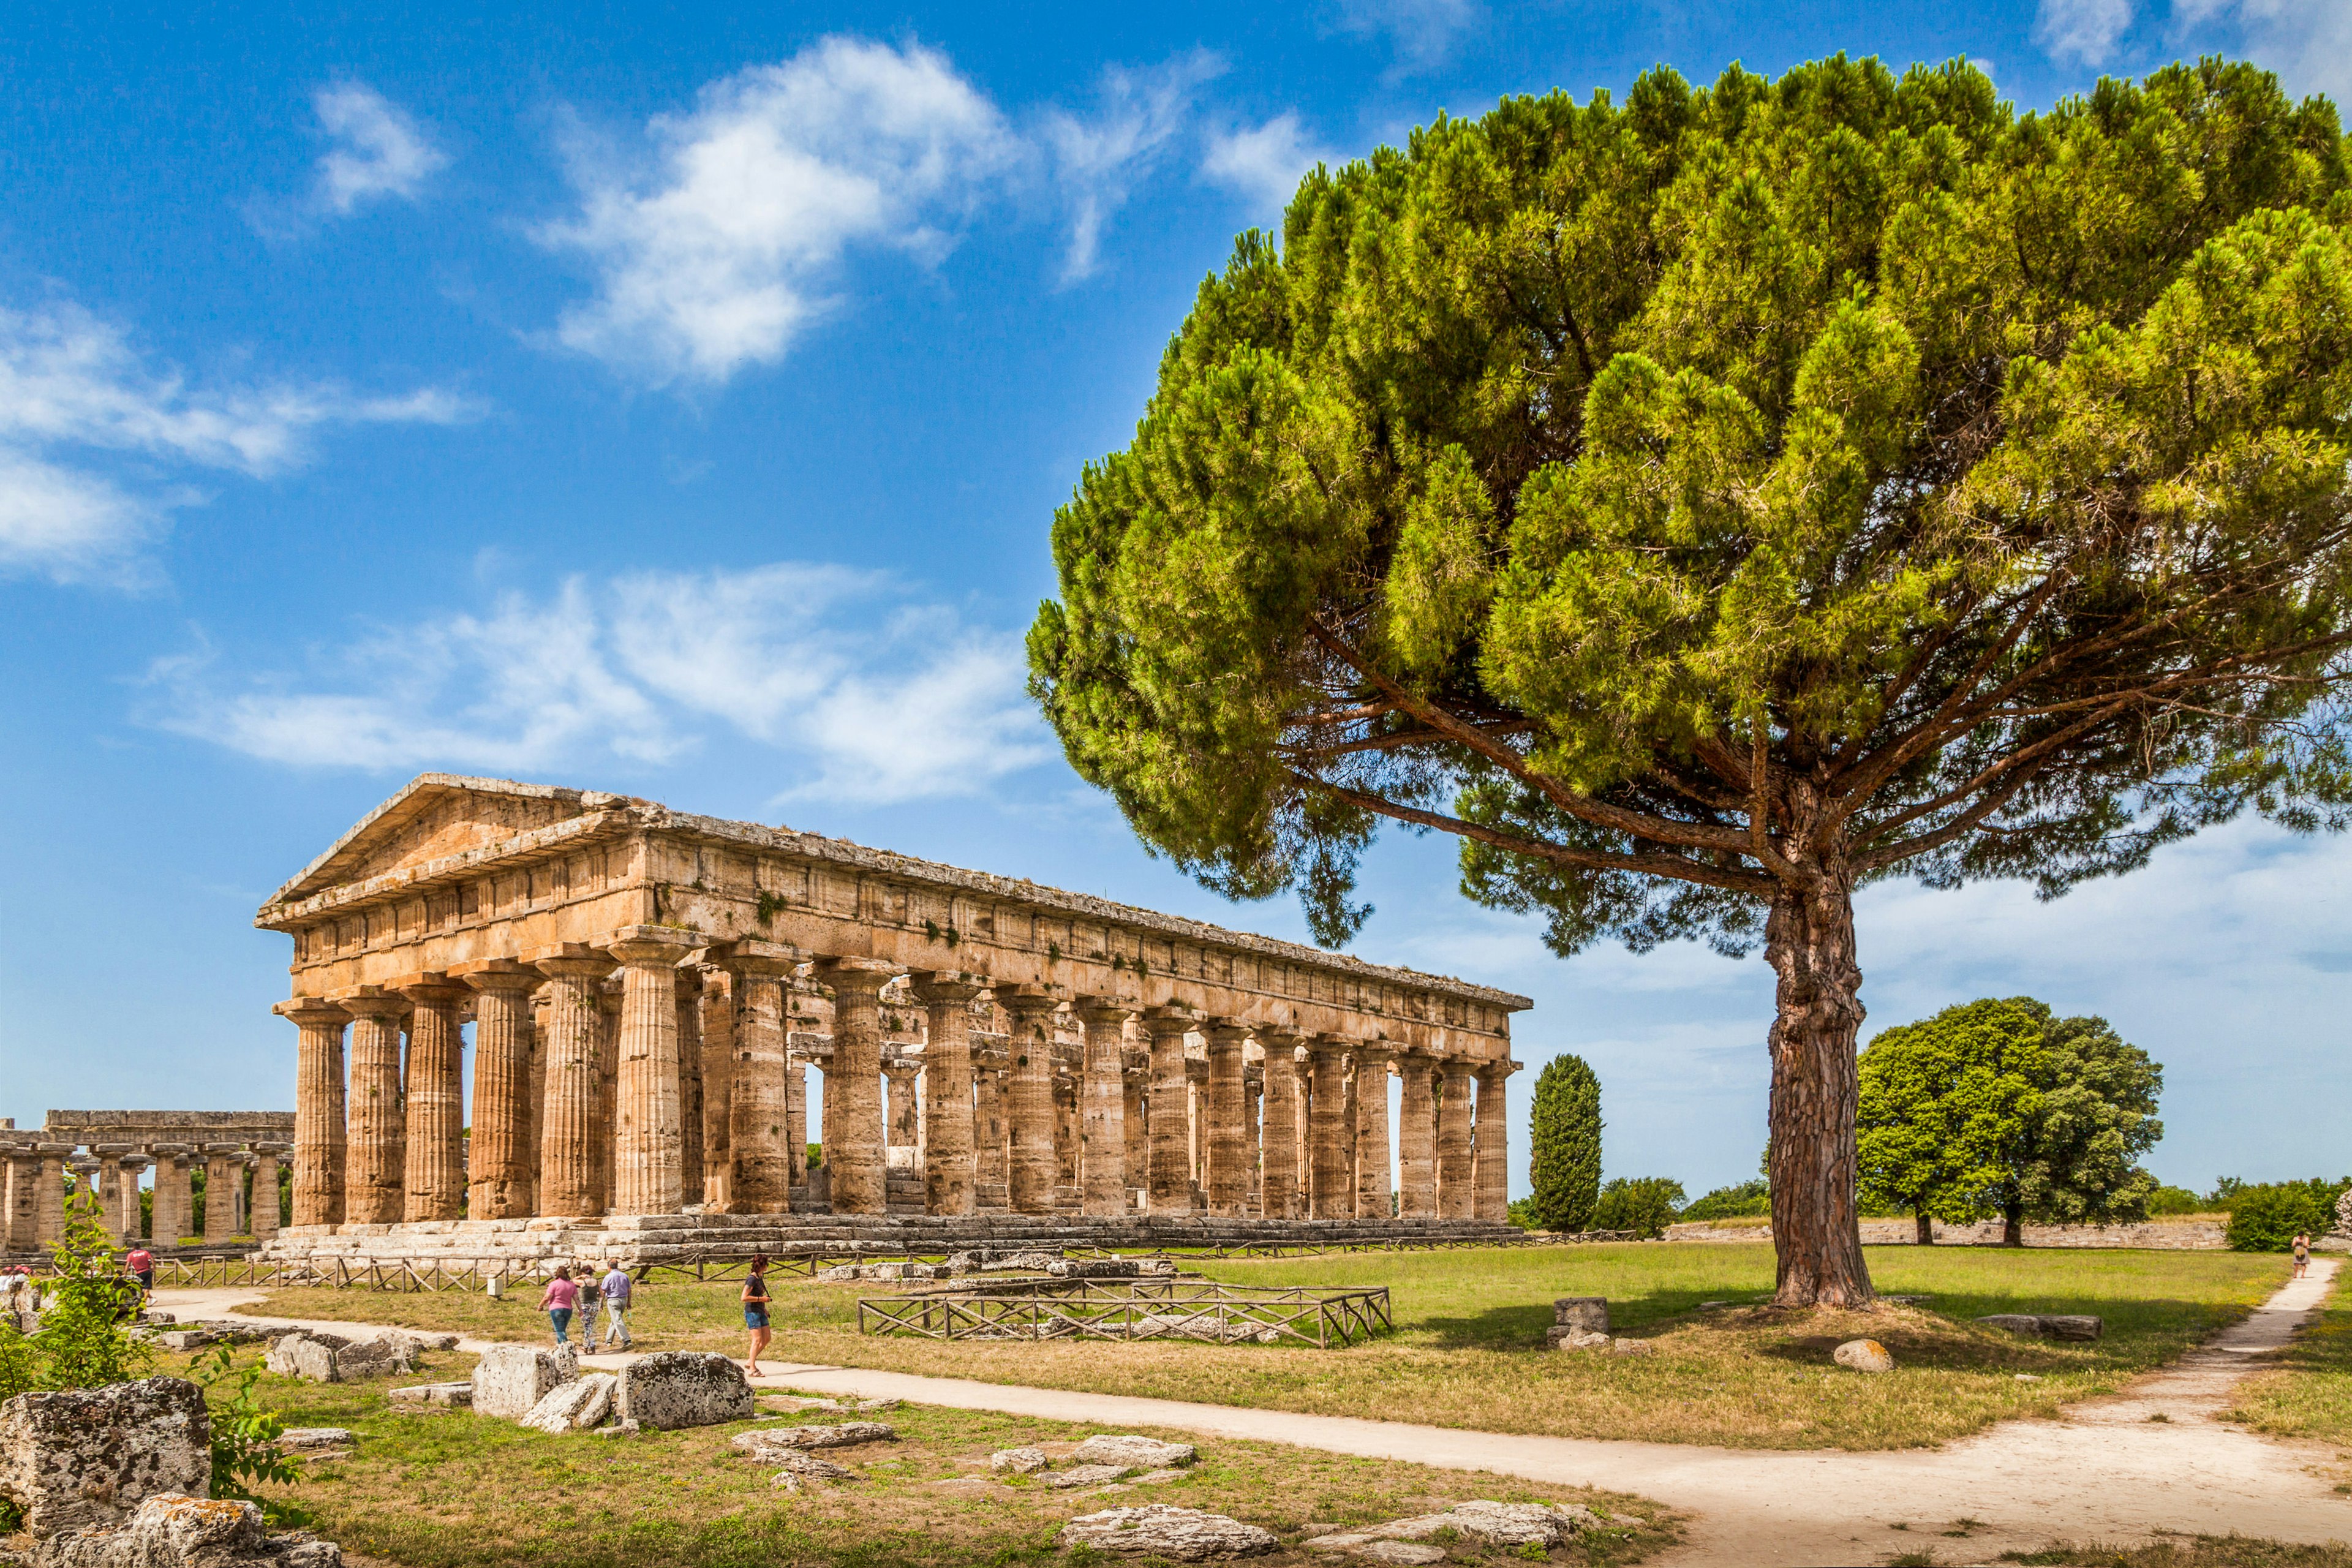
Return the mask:
<path id="1" fill-rule="evenodd" d="M 503 773 L 666 764 L 715 726 L 776 748 L 779 799 L 971 795 L 1051 755 L 1018 639 L 826 564 L 567 581 L 543 602 L 367 632 L 303 677 L 223 691 L 151 670 L 151 724 L 299 766 Z M 715 724 L 713 724 L 715 722 Z"/>

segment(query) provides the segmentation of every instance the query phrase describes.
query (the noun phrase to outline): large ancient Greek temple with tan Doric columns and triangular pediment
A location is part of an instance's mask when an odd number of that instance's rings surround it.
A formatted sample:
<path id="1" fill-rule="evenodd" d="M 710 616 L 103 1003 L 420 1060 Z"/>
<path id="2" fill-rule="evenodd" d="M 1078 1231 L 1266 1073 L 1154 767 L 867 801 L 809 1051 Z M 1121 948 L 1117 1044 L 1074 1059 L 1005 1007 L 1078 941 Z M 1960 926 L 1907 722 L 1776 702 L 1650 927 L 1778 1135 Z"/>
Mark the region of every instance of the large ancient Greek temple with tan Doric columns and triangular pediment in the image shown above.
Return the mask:
<path id="1" fill-rule="evenodd" d="M 616 1218 L 1503 1220 L 1529 999 L 1463 980 L 445 773 L 254 924 L 294 938 L 280 1251 Z"/>

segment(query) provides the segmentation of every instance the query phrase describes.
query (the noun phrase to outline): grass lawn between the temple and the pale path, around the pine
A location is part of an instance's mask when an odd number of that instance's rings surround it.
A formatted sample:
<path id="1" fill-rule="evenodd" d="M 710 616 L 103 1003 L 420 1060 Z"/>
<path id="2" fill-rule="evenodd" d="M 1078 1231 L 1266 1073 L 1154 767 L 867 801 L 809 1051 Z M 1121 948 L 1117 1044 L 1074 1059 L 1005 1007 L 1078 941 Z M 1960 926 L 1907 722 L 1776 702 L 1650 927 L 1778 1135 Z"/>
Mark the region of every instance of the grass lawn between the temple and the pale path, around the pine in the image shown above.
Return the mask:
<path id="1" fill-rule="evenodd" d="M 1446 1253 L 1350 1253 L 1200 1262 L 1235 1284 L 1385 1284 L 1397 1333 L 1355 1349 L 1225 1345 L 938 1345 L 856 1335 L 856 1298 L 887 1286 L 776 1286 L 783 1361 L 1148 1394 L 1225 1406 L 1367 1415 L 1486 1432 L 1722 1443 L 1733 1448 L 1917 1448 L 2114 1389 L 2237 1321 L 2286 1276 L 2241 1253 L 1872 1248 L 1882 1291 L 1926 1295 L 1877 1314 L 1783 1314 L 1771 1248 L 1623 1244 Z M 1651 1356 L 1543 1349 L 1555 1295 L 1606 1295 L 1618 1333 Z M 1703 1302 L 1733 1302 L 1703 1307 Z M 492 1338 L 534 1338 L 524 1302 L 480 1295 L 278 1291 L 266 1312 Z M 2098 1345 L 2013 1340 L 1990 1312 L 2093 1312 Z M 640 1293 L 640 1347 L 741 1354 L 736 1286 Z M 1830 1347 L 1870 1335 L 1898 1371 L 1858 1375 Z M 2020 1380 L 2020 1373 L 2025 1380 Z"/>

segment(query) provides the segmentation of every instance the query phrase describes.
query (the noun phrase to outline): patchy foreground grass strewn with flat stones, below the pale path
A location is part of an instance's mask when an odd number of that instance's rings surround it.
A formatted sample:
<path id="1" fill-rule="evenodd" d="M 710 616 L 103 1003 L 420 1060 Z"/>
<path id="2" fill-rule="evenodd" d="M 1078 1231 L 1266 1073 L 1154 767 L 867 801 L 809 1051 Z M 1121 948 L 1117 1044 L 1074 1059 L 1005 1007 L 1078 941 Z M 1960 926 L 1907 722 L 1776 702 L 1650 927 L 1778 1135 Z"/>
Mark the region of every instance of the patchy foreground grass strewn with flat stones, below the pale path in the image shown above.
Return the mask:
<path id="1" fill-rule="evenodd" d="M 179 1373 L 186 1361 L 165 1356 L 158 1371 Z M 430 1356 L 421 1375 L 463 1378 L 470 1363 Z M 1677 1533 L 1658 1507 L 1616 1493 L 1188 1434 L 1160 1434 L 1200 1446 L 1200 1462 L 1181 1481 L 1058 1493 L 1042 1479 L 993 1479 L 988 1455 L 1023 1443 L 1065 1450 L 1098 1427 L 917 1406 L 882 1415 L 898 1429 L 894 1443 L 826 1450 L 858 1481 L 793 1495 L 769 1483 L 774 1465 L 727 1446 L 753 1422 L 630 1439 L 546 1436 L 466 1410 L 395 1408 L 388 1387 L 259 1385 L 263 1403 L 289 1425 L 358 1434 L 348 1458 L 313 1460 L 296 1486 L 263 1490 L 287 1523 L 327 1535 L 362 1568 L 367 1559 L 405 1568 L 1105 1563 L 1117 1559 L 1061 1552 L 1056 1530 L 1077 1514 L 1141 1502 L 1211 1509 L 1275 1530 L 1287 1552 L 1254 1559 L 1261 1563 L 1308 1561 L 1296 1544 L 1310 1523 L 1374 1523 L 1470 1497 L 1583 1502 L 1630 1521 L 1545 1559 L 1557 1563 L 1632 1563 Z M 1477 1552 L 1456 1556 L 1484 1561 Z"/>

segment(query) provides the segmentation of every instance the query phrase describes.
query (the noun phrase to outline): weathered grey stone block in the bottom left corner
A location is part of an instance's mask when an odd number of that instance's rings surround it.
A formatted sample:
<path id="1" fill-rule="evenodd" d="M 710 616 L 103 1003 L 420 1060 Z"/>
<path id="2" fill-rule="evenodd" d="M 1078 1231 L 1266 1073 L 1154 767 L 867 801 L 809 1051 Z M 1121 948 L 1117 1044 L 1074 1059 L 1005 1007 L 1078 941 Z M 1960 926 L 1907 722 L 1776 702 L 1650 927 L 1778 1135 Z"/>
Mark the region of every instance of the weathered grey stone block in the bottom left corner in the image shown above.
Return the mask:
<path id="1" fill-rule="evenodd" d="M 0 1406 L 0 1497 L 33 1535 L 113 1526 L 148 1497 L 212 1490 L 212 1420 L 183 1378 L 19 1394 Z"/>

